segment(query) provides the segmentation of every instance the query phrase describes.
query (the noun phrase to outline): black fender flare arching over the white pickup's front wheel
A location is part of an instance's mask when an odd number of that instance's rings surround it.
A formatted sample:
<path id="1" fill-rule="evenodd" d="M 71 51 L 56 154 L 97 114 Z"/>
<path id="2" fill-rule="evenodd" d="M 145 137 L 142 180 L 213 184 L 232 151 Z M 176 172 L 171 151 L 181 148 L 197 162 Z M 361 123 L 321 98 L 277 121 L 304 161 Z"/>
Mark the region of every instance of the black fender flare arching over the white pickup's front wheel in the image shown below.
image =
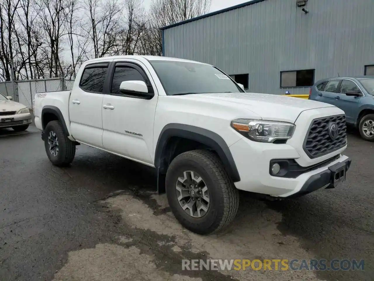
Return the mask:
<path id="1" fill-rule="evenodd" d="M 239 172 L 236 168 L 234 158 L 230 152 L 229 146 L 227 146 L 226 142 L 224 141 L 221 136 L 217 135 L 216 133 L 202 129 L 200 127 L 185 125 L 185 124 L 177 124 L 172 123 L 166 125 L 159 136 L 156 146 L 156 153 L 154 157 L 154 165 L 159 172 L 163 158 L 165 158 L 165 148 L 168 140 L 172 137 L 181 137 L 190 139 L 192 141 L 200 142 L 204 145 L 207 145 L 214 149 L 218 156 L 221 158 L 224 166 L 229 173 L 229 176 L 233 180 L 233 182 L 240 181 Z"/>

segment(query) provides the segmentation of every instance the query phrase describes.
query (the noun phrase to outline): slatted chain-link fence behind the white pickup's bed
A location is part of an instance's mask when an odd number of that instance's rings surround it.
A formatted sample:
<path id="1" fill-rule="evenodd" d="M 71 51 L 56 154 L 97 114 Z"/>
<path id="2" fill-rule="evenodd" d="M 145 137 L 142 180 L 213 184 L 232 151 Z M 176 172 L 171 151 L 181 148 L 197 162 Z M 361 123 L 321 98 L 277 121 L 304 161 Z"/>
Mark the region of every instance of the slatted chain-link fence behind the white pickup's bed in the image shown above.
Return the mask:
<path id="1" fill-rule="evenodd" d="M 73 84 L 74 80 L 61 78 L 0 82 L 0 93 L 32 109 L 36 93 L 68 91 L 73 89 Z"/>

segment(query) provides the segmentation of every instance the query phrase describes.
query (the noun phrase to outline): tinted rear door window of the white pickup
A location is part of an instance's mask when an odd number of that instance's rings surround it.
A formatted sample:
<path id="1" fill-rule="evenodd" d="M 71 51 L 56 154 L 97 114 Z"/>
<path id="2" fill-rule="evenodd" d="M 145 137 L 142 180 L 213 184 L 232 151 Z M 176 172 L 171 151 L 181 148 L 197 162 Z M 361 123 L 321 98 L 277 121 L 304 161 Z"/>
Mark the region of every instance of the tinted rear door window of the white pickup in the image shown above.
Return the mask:
<path id="1" fill-rule="evenodd" d="M 107 66 L 87 67 L 83 70 L 79 87 L 86 92 L 102 93 L 107 72 Z"/>

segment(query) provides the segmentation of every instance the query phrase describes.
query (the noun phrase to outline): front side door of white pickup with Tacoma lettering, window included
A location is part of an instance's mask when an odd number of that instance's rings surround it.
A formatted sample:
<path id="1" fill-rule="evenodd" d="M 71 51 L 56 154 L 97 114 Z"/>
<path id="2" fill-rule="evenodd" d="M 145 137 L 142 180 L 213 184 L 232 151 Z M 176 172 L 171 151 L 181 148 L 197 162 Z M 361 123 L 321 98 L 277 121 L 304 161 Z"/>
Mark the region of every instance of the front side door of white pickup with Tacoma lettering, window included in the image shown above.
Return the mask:
<path id="1" fill-rule="evenodd" d="M 127 59 L 112 64 L 110 94 L 102 101 L 103 145 L 108 151 L 153 166 L 153 124 L 158 95 L 147 67 Z M 119 90 L 123 81 L 140 80 L 155 91 L 151 99 Z"/>

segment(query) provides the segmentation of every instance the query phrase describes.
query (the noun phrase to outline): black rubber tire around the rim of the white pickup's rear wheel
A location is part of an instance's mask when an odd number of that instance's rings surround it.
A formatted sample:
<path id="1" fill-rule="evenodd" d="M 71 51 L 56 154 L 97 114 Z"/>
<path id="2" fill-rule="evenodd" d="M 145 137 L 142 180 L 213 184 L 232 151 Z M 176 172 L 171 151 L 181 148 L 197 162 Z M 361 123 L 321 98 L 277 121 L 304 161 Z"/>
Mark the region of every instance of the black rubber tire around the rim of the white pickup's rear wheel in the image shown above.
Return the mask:
<path id="1" fill-rule="evenodd" d="M 58 138 L 59 151 L 56 156 L 49 151 L 48 136 L 51 131 L 55 132 Z M 68 139 L 61 123 L 59 121 L 50 121 L 44 130 L 44 134 L 46 153 L 52 164 L 55 166 L 67 166 L 70 164 L 74 160 L 76 144 Z"/>

